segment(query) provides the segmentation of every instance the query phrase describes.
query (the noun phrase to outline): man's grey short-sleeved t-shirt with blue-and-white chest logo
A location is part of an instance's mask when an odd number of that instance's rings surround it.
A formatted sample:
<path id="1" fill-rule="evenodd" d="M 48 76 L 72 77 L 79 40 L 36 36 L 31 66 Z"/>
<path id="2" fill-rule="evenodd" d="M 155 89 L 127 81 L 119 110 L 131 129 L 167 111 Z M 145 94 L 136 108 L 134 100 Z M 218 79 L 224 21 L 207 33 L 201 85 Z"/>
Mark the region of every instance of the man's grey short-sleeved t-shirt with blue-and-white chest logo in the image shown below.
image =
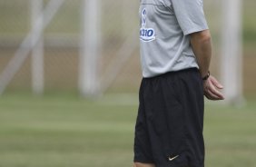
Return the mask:
<path id="1" fill-rule="evenodd" d="M 202 0 L 141 0 L 143 77 L 196 67 L 190 36 L 208 29 Z"/>

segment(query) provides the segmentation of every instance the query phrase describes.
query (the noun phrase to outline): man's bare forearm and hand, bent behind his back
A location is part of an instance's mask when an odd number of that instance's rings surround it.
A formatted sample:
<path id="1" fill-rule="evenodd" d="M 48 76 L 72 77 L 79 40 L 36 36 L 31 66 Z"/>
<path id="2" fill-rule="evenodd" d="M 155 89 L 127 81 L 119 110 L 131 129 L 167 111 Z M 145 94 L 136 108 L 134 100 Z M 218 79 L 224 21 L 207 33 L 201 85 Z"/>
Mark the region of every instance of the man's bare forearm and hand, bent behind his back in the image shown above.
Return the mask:
<path id="1" fill-rule="evenodd" d="M 209 72 L 212 57 L 212 40 L 209 30 L 193 33 L 191 35 L 191 44 L 193 53 L 196 56 L 200 73 L 202 77 Z M 223 100 L 223 94 L 218 90 L 223 86 L 212 75 L 203 81 L 204 95 L 210 100 Z"/>

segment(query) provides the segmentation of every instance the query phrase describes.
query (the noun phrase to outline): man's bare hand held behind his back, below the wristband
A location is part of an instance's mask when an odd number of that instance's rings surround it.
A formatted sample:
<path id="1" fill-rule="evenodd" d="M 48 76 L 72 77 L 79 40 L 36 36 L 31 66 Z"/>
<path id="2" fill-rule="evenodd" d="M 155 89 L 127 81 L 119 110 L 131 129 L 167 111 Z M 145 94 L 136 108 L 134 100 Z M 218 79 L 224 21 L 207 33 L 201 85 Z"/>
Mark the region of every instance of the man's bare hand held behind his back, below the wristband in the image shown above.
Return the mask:
<path id="1" fill-rule="evenodd" d="M 205 81 L 203 81 L 204 95 L 213 101 L 224 100 L 223 94 L 219 91 L 223 89 L 221 83 L 219 83 L 212 75 Z"/>

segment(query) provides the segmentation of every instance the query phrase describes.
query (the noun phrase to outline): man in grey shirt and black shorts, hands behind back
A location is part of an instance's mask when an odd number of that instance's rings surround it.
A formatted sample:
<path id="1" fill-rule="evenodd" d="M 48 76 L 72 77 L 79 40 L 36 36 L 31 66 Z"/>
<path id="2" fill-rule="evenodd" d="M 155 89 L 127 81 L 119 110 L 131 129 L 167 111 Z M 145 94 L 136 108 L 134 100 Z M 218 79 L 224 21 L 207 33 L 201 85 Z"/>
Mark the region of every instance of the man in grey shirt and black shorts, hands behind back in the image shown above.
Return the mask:
<path id="1" fill-rule="evenodd" d="M 224 99 L 209 72 L 211 34 L 202 0 L 141 0 L 143 81 L 135 167 L 203 167 L 203 94 Z"/>

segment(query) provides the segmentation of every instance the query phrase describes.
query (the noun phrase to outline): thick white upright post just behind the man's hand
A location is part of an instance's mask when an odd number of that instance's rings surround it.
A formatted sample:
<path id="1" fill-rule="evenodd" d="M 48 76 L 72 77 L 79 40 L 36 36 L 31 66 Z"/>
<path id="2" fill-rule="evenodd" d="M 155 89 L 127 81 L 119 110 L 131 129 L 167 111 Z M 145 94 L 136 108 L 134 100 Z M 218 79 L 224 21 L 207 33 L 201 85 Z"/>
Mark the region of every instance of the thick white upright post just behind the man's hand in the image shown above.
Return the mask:
<path id="1" fill-rule="evenodd" d="M 222 1 L 222 83 L 227 103 L 242 102 L 241 0 Z"/>

